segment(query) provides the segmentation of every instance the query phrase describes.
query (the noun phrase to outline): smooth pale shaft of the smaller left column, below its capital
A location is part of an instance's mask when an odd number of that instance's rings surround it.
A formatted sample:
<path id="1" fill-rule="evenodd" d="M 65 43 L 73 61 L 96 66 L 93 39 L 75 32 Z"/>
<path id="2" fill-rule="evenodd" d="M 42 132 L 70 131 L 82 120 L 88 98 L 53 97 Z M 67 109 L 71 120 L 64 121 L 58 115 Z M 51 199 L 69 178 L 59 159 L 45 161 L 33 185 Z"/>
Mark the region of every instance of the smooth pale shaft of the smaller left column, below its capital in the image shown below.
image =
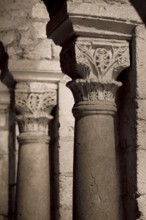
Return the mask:
<path id="1" fill-rule="evenodd" d="M 48 141 L 40 142 L 38 137 L 35 137 L 32 143 L 31 141 L 31 137 L 28 142 L 25 138 L 25 142 L 21 140 L 19 147 L 17 219 L 48 220 L 50 216 Z"/>

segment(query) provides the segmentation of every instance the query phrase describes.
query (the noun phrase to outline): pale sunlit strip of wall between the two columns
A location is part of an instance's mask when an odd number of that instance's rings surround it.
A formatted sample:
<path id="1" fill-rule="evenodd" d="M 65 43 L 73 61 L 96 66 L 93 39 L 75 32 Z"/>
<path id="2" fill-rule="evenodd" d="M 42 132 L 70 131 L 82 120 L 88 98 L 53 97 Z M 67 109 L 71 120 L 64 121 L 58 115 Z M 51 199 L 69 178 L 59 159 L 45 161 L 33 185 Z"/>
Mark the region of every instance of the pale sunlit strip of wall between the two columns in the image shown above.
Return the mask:
<path id="1" fill-rule="evenodd" d="M 69 80 L 69 77 L 64 76 L 58 88 L 60 220 L 72 219 L 74 118 L 71 113 L 73 96 L 65 85 Z"/>

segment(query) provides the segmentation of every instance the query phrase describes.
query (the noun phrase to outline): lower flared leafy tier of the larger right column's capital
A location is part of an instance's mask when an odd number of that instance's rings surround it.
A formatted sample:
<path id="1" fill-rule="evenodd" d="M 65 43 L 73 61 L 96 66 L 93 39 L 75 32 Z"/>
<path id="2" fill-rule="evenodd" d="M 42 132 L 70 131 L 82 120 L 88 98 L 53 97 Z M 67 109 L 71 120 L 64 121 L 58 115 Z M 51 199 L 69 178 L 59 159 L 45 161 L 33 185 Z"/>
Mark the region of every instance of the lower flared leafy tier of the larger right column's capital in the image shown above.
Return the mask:
<path id="1" fill-rule="evenodd" d="M 75 103 L 82 101 L 114 102 L 116 92 L 121 85 L 115 80 L 87 81 L 83 79 L 77 79 L 67 84 L 73 93 Z"/>

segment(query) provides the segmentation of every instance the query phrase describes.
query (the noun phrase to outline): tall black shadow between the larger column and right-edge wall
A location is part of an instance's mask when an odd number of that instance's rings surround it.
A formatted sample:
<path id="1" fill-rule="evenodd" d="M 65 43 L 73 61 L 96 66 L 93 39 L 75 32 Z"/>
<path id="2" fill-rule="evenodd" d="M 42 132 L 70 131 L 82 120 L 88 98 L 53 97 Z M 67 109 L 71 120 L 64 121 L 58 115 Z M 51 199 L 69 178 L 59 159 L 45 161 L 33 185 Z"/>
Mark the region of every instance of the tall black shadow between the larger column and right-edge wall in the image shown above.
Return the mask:
<path id="1" fill-rule="evenodd" d="M 131 48 L 134 56 L 133 46 Z M 136 168 L 136 71 L 133 62 L 131 68 L 125 70 L 119 81 L 123 86 L 117 95 L 117 124 L 118 124 L 118 154 L 121 170 L 121 191 L 124 210 L 124 220 L 135 220 L 140 217 L 136 198 L 137 168 Z"/>

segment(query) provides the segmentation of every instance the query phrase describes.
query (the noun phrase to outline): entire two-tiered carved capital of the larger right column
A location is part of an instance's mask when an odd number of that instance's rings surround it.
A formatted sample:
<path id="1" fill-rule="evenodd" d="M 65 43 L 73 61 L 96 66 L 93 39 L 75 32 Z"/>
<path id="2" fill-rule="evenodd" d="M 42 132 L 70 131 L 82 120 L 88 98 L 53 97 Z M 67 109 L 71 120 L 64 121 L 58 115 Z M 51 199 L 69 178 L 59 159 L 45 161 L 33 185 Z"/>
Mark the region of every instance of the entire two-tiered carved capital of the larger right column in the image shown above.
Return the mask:
<path id="1" fill-rule="evenodd" d="M 75 101 L 114 101 L 118 75 L 130 66 L 126 41 L 78 40 L 61 51 L 61 67 L 72 78 L 68 87 Z"/>

